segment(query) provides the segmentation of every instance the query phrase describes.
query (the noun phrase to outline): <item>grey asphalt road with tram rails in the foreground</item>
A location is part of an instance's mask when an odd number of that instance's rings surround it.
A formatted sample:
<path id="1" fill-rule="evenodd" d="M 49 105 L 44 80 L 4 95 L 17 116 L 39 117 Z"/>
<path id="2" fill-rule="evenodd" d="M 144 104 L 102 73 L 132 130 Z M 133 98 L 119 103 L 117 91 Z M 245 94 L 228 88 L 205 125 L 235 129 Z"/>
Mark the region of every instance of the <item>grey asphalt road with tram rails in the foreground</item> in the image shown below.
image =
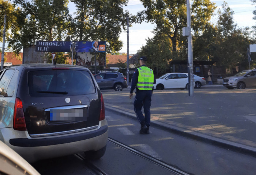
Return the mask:
<path id="1" fill-rule="evenodd" d="M 255 157 L 150 127 L 139 134 L 138 121 L 106 110 L 109 138 L 191 175 L 254 175 Z M 81 153 L 83 155 L 83 153 Z M 105 155 L 92 161 L 108 175 L 174 175 L 175 173 L 108 142 Z M 74 155 L 32 164 L 42 175 L 93 175 Z"/>

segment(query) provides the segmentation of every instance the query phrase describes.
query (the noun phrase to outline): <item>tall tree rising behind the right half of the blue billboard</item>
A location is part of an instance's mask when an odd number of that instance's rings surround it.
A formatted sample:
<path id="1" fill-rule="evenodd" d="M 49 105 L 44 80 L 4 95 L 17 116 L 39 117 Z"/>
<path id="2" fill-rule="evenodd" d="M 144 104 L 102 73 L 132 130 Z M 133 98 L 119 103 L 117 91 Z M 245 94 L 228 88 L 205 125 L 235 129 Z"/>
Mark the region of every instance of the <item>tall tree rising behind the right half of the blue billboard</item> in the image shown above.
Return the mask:
<path id="1" fill-rule="evenodd" d="M 128 0 L 71 0 L 76 6 L 72 39 L 79 41 L 107 41 L 106 52 L 114 53 L 123 47 L 119 40 L 122 27 L 127 25 L 128 11 L 123 10 Z M 135 21 L 130 16 L 130 23 Z"/>

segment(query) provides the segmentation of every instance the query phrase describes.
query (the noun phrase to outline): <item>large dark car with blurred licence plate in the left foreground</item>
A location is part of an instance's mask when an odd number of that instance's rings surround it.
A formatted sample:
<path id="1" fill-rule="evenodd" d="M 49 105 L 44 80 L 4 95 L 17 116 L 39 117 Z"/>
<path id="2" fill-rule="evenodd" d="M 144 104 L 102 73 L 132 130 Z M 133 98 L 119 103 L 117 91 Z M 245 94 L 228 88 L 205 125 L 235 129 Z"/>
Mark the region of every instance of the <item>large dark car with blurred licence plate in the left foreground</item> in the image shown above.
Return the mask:
<path id="1" fill-rule="evenodd" d="M 28 162 L 79 152 L 93 159 L 105 154 L 104 102 L 89 69 L 12 65 L 0 71 L 0 89 L 0 140 Z"/>

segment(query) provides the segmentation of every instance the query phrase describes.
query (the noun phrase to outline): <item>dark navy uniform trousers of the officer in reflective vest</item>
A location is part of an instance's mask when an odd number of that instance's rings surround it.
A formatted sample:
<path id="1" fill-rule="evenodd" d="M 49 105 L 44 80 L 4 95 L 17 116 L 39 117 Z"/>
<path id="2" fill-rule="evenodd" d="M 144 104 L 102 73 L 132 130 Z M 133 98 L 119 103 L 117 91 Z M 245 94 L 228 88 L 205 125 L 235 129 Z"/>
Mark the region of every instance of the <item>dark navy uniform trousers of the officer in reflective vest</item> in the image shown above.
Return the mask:
<path id="1" fill-rule="evenodd" d="M 151 90 L 136 90 L 136 96 L 133 103 L 135 114 L 142 126 L 150 126 L 150 106 L 151 106 Z M 145 117 L 142 114 L 142 106 L 144 108 Z"/>

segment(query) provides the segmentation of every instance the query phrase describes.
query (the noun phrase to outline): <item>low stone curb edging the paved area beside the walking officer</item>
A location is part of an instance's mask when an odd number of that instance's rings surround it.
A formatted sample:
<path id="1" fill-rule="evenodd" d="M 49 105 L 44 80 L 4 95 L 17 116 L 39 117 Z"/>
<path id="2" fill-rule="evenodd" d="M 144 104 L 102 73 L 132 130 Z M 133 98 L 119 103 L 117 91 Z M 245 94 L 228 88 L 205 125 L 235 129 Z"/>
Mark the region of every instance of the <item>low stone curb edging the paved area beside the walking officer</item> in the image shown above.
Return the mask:
<path id="1" fill-rule="evenodd" d="M 109 110 L 109 111 L 117 112 L 118 114 L 122 114 L 122 115 L 127 116 L 127 117 L 132 118 L 132 119 L 136 119 L 135 114 L 115 109 L 113 107 L 108 106 L 108 104 L 106 104 L 106 103 L 105 103 L 105 109 Z M 171 131 L 173 133 L 176 133 L 176 134 L 179 134 L 179 135 L 191 138 L 191 139 L 200 140 L 200 141 L 203 141 L 203 142 L 207 142 L 207 143 L 210 143 L 210 144 L 214 144 L 214 145 L 217 145 L 217 146 L 228 148 L 228 149 L 236 151 L 236 152 L 240 152 L 240 153 L 243 153 L 243 154 L 249 154 L 251 156 L 256 157 L 256 148 L 254 148 L 254 147 L 245 146 L 245 145 L 240 144 L 240 143 L 235 143 L 235 142 L 230 142 L 230 141 L 227 141 L 227 140 L 215 138 L 215 137 L 212 137 L 212 136 L 201 134 L 199 132 L 195 132 L 195 131 L 192 131 L 192 130 L 172 126 L 172 125 L 161 123 L 161 122 L 158 122 L 158 121 L 151 121 L 150 124 L 151 124 L 151 126 L 160 127 L 162 129 Z"/>

